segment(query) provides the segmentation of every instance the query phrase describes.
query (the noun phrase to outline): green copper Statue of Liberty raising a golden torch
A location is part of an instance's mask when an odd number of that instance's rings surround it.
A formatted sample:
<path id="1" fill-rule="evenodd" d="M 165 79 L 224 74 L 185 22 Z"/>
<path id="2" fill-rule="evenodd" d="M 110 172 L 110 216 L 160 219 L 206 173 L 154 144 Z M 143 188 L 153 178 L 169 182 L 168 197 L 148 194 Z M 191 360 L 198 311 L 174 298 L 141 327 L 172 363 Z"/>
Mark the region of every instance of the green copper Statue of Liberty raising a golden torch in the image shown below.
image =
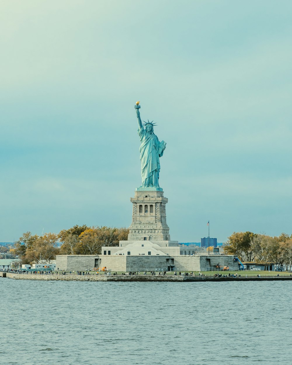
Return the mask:
<path id="1" fill-rule="evenodd" d="M 141 160 L 141 176 L 142 185 L 140 188 L 159 188 L 158 179 L 160 172 L 159 158 L 163 155 L 166 143 L 159 142 L 157 136 L 153 132 L 155 123 L 144 122 L 140 118 L 139 101 L 135 105 L 137 119 L 138 119 L 138 135 L 140 137 L 140 160 Z"/>

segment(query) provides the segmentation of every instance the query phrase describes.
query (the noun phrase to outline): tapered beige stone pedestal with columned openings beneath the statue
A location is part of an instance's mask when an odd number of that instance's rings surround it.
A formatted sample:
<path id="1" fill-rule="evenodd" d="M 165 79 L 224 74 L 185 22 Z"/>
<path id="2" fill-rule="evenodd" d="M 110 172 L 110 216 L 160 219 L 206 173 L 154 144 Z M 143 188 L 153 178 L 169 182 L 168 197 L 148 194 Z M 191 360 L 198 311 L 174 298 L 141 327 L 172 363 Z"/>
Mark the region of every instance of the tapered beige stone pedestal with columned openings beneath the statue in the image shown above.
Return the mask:
<path id="1" fill-rule="evenodd" d="M 128 241 L 170 241 L 165 205 L 168 199 L 161 188 L 136 188 L 132 224 Z"/>

